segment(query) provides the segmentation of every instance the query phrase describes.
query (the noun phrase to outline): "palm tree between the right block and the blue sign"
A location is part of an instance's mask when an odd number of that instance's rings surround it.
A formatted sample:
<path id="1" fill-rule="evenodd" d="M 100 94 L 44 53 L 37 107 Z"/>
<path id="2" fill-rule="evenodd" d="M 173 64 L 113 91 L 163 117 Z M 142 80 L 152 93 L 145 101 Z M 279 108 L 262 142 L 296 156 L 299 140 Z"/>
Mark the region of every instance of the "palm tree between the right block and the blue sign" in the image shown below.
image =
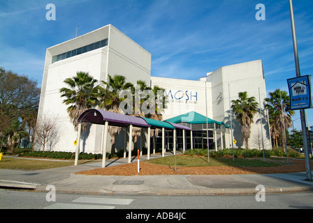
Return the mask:
<path id="1" fill-rule="evenodd" d="M 295 112 L 290 109 L 290 98 L 286 91 L 276 89 L 274 92 L 270 92 L 269 95 L 270 98 L 265 98 L 265 102 L 267 102 L 265 107 L 269 111 L 272 139 L 275 142 L 275 147 L 277 147 L 277 141 L 280 137 L 285 149 L 284 128 L 287 129 L 292 126 L 291 116 Z"/>

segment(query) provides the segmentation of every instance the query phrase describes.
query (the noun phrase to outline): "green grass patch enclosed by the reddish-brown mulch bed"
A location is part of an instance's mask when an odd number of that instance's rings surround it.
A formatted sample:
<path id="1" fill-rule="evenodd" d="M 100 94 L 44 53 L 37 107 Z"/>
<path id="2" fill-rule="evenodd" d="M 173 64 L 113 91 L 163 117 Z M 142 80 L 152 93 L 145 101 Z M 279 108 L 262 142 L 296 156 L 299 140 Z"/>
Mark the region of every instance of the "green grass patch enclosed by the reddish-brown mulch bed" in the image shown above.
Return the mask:
<path id="1" fill-rule="evenodd" d="M 175 156 L 161 157 L 145 162 L 173 166 L 175 164 Z M 233 162 L 233 157 L 210 157 L 210 162 L 208 162 L 208 157 L 176 156 L 176 164 L 178 167 L 277 167 L 282 165 L 283 162 L 285 161 L 272 158 L 265 159 L 265 162 L 263 158 L 235 158 L 235 162 Z"/>

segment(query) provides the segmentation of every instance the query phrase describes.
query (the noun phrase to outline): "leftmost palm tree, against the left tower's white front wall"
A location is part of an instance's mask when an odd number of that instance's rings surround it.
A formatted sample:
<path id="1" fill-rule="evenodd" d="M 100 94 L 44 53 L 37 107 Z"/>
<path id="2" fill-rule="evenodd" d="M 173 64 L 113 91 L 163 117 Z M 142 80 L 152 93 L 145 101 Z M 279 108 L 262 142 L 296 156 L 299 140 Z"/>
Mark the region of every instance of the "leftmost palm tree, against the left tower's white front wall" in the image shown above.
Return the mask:
<path id="1" fill-rule="evenodd" d="M 98 82 L 88 72 L 77 72 L 76 76 L 67 78 L 64 83 L 70 86 L 69 89 L 60 89 L 61 97 L 64 97 L 64 104 L 71 105 L 67 112 L 73 122 L 74 128 L 78 130 L 78 118 L 85 110 L 95 107 L 98 104 Z M 82 132 L 87 128 L 86 123 L 82 123 Z"/>

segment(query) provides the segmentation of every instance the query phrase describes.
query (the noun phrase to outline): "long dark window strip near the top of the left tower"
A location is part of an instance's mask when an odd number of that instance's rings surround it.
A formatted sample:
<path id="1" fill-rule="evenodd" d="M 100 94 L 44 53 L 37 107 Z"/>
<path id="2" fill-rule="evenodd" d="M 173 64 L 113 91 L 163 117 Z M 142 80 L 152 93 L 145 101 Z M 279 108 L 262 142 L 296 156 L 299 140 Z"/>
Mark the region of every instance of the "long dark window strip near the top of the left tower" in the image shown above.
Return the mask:
<path id="1" fill-rule="evenodd" d="M 107 45 L 108 45 L 108 39 L 105 39 L 105 40 L 101 40 L 101 41 L 96 42 L 96 43 L 92 43 L 90 45 L 86 45 L 84 47 L 80 47 L 78 49 L 74 49 L 72 51 L 65 52 L 63 54 L 52 56 L 52 63 L 55 63 L 57 61 L 61 61 L 61 60 L 64 60 L 64 59 L 68 59 L 68 58 L 70 58 L 72 56 L 76 56 L 76 55 L 79 55 L 79 54 L 84 54 L 85 52 L 89 52 L 89 51 L 92 51 L 94 49 L 99 49 L 101 47 L 106 47 Z"/>

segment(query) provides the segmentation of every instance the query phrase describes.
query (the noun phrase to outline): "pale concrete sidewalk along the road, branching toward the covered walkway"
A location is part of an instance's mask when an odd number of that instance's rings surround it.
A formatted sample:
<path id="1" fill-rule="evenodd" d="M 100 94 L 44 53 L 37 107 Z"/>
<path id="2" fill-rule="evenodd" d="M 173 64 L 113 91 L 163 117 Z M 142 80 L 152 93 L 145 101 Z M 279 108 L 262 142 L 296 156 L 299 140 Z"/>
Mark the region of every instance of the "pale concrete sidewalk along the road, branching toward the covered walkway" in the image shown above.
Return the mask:
<path id="1" fill-rule="evenodd" d="M 166 153 L 166 155 L 173 155 Z M 161 155 L 152 155 L 153 158 Z M 147 159 L 145 155 L 141 160 Z M 132 162 L 137 162 L 136 157 Z M 162 175 L 162 176 L 86 176 L 79 171 L 101 168 L 100 162 L 37 171 L 0 169 L 0 187 L 46 191 L 54 185 L 57 192 L 98 194 L 256 194 L 257 185 L 265 193 L 305 192 L 313 190 L 306 174 L 242 174 L 242 175 Z M 107 160 L 106 167 L 128 163 L 128 159 Z"/>

